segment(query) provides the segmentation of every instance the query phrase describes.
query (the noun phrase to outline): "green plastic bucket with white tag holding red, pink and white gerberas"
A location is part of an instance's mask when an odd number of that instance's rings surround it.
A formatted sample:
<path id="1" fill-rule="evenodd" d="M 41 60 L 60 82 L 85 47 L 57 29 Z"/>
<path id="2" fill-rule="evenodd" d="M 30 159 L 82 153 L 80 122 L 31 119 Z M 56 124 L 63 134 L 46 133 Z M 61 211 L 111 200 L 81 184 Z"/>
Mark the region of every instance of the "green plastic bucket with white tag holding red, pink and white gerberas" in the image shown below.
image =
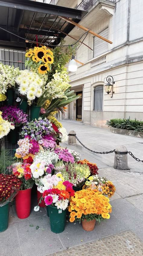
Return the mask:
<path id="1" fill-rule="evenodd" d="M 53 233 L 62 233 L 65 229 L 65 219 L 67 210 L 57 209 L 51 205 L 49 208 L 50 227 Z"/>

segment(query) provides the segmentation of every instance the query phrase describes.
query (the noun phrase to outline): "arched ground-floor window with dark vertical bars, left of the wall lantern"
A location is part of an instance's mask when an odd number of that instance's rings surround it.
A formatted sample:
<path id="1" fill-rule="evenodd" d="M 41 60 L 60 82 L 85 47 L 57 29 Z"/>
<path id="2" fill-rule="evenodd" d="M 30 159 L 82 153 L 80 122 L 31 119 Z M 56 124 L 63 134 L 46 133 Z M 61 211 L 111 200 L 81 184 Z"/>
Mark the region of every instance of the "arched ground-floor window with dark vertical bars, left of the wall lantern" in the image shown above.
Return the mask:
<path id="1" fill-rule="evenodd" d="M 94 87 L 93 110 L 103 110 L 103 85 L 98 85 Z"/>

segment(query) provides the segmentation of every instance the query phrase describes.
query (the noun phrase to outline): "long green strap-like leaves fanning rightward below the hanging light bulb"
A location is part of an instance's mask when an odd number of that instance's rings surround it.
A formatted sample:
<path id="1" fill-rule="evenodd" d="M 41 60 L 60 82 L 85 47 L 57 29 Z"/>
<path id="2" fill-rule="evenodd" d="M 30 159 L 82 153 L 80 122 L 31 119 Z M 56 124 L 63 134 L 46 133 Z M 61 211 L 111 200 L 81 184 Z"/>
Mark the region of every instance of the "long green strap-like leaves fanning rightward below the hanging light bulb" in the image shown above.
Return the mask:
<path id="1" fill-rule="evenodd" d="M 75 94 L 75 91 L 72 90 L 70 91 L 69 87 L 66 91 L 65 91 L 65 95 L 67 96 L 68 99 L 60 99 L 60 98 L 56 98 L 54 100 L 51 101 L 49 107 L 46 109 L 46 113 L 43 114 L 43 117 L 48 116 L 51 112 L 53 111 L 61 111 L 62 107 L 65 107 L 67 104 L 69 104 L 70 102 L 77 100 L 79 98 L 79 96 L 77 96 Z"/>

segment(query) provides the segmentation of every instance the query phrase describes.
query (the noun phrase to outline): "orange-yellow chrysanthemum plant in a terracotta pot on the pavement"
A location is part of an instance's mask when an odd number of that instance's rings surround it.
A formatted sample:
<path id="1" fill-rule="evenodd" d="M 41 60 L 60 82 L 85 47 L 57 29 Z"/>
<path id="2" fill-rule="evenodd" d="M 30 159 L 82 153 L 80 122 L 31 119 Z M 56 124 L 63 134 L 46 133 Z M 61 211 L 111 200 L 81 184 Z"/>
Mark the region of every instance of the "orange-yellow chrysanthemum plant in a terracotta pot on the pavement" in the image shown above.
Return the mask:
<path id="1" fill-rule="evenodd" d="M 82 189 L 75 192 L 71 197 L 70 206 L 70 222 L 79 220 L 82 222 L 84 230 L 91 231 L 95 227 L 96 220 L 109 219 L 112 211 L 109 198 L 103 196 L 100 191 L 91 189 Z"/>

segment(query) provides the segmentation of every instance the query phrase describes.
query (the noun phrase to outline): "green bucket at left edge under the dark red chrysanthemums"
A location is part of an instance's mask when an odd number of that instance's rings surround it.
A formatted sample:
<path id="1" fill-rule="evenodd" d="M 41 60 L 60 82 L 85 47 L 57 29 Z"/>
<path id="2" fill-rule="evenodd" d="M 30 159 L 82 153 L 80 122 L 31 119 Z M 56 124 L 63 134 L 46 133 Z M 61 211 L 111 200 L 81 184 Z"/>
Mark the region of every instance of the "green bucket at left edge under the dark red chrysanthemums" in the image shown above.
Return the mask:
<path id="1" fill-rule="evenodd" d="M 8 228 L 9 206 L 10 203 L 7 203 L 0 207 L 0 232 L 3 232 Z"/>

